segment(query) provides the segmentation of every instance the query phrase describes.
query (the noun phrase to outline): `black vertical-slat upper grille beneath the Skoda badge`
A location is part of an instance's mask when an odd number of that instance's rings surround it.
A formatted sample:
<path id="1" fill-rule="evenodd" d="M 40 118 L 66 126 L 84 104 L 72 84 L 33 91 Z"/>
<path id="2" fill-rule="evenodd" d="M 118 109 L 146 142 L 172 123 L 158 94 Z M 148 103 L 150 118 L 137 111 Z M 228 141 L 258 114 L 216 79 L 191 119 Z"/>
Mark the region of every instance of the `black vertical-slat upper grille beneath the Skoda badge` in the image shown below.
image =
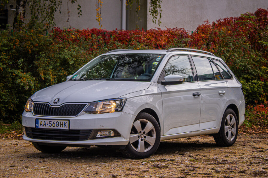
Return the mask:
<path id="1" fill-rule="evenodd" d="M 86 104 L 65 104 L 59 107 L 50 106 L 48 103 L 34 103 L 33 114 L 37 116 L 76 116 Z"/>

